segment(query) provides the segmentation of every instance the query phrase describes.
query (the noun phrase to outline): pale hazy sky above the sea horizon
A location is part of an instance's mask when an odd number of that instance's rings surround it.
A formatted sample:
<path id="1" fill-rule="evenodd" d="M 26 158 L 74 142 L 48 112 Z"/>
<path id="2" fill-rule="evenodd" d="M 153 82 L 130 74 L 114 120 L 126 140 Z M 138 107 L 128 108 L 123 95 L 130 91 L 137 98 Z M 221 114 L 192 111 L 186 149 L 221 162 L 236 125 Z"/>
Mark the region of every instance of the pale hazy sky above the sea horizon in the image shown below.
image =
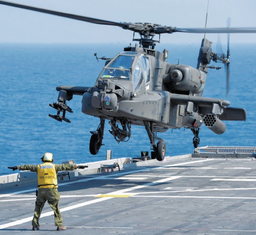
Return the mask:
<path id="1" fill-rule="evenodd" d="M 115 22 L 205 27 L 208 0 L 13 0 L 12 2 Z M 255 0 L 210 0 L 207 27 L 256 28 Z M 133 32 L 0 5 L 0 43 L 133 43 Z M 139 35 L 137 35 L 139 37 Z M 161 35 L 162 43 L 197 43 L 203 34 Z M 211 41 L 216 34 L 206 35 Z M 158 39 L 158 36 L 155 36 Z M 222 43 L 227 35 L 221 35 Z M 230 43 L 256 42 L 256 34 L 232 34 Z"/>

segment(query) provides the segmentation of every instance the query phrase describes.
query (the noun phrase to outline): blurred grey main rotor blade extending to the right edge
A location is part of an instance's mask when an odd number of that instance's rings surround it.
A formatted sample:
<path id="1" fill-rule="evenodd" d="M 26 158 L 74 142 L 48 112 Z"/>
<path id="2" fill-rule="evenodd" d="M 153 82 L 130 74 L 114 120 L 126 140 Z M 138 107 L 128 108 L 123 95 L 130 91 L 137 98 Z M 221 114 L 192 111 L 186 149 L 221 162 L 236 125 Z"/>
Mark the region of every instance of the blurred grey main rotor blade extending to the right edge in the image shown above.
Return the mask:
<path id="1" fill-rule="evenodd" d="M 181 33 L 256 33 L 256 28 L 174 28 L 173 32 Z"/>

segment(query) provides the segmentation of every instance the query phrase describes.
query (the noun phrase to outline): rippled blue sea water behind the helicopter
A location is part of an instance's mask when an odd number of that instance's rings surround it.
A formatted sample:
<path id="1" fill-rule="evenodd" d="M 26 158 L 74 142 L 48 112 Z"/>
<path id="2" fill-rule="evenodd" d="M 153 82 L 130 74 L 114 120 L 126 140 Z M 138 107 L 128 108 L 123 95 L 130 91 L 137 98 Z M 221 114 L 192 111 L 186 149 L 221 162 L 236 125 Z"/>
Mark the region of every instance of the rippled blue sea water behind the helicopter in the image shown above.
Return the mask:
<path id="1" fill-rule="evenodd" d="M 68 102 L 74 113 L 67 113 L 71 123 L 57 122 L 48 114 L 56 114 L 49 103 L 57 101 L 56 86 L 92 86 L 104 66 L 98 56 L 113 57 L 126 44 L 0 44 L 0 175 L 10 174 L 7 166 L 39 164 L 45 152 L 52 152 L 55 162 L 74 159 L 76 163 L 104 160 L 107 149 L 113 157 L 139 156 L 150 151 L 144 127 L 132 126 L 128 142 L 119 144 L 108 132 L 99 154 L 89 153 L 89 131 L 95 131 L 99 118 L 81 112 L 82 96 Z M 196 66 L 198 45 L 157 45 L 169 50 L 170 63 Z M 214 48 L 214 45 L 213 45 Z M 227 130 L 216 135 L 205 126 L 200 130 L 200 146 L 255 146 L 256 44 L 231 45 L 231 76 L 228 100 L 231 107 L 244 107 L 247 121 L 227 121 Z M 217 64 L 222 66 L 222 64 Z M 225 98 L 225 73 L 210 70 L 204 96 Z M 193 134 L 190 130 L 168 130 L 159 133 L 167 144 L 167 156 L 192 153 Z"/>

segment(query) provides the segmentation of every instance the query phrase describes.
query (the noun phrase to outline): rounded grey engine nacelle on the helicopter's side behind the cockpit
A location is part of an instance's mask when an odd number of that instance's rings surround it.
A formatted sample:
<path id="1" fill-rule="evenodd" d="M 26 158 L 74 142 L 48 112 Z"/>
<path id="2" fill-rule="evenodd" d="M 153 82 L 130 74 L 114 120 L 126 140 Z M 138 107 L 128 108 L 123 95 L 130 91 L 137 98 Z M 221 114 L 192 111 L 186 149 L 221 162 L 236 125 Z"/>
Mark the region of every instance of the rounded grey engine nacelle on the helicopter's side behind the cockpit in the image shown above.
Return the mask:
<path id="1" fill-rule="evenodd" d="M 202 92 L 206 74 L 187 65 L 173 64 L 163 77 L 163 82 L 171 90 L 191 90 L 194 94 Z"/>

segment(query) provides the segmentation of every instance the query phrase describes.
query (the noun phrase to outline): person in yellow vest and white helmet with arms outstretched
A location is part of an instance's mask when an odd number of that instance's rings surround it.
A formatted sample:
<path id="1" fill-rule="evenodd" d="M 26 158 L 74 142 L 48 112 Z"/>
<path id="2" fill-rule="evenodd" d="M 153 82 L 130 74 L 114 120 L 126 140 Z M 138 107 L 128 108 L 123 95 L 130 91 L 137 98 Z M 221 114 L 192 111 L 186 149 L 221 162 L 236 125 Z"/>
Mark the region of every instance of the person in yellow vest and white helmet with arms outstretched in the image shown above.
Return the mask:
<path id="1" fill-rule="evenodd" d="M 53 164 L 53 155 L 51 153 L 45 153 L 41 160 L 43 163 L 40 165 L 22 165 L 8 168 L 13 169 L 13 171 L 20 169 L 37 173 L 38 193 L 32 220 L 32 230 L 39 230 L 39 218 L 46 201 L 54 211 L 54 222 L 57 230 L 66 230 L 66 227 L 62 225 L 62 216 L 59 209 L 60 193 L 58 192 L 57 172 L 74 171 L 77 168 L 84 169 L 88 166 Z"/>

